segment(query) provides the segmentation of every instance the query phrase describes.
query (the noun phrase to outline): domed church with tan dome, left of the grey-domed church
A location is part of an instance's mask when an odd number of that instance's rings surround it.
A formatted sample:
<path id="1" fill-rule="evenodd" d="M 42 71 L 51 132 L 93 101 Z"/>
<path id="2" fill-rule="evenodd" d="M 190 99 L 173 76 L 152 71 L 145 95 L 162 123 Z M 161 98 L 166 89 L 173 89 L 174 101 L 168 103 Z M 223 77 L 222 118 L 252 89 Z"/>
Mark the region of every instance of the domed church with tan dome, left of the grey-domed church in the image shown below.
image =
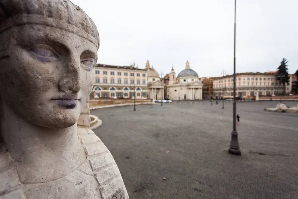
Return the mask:
<path id="1" fill-rule="evenodd" d="M 148 98 L 153 100 L 164 99 L 164 83 L 161 81 L 158 72 L 150 66 L 147 60 L 145 69 L 147 71 Z"/>

